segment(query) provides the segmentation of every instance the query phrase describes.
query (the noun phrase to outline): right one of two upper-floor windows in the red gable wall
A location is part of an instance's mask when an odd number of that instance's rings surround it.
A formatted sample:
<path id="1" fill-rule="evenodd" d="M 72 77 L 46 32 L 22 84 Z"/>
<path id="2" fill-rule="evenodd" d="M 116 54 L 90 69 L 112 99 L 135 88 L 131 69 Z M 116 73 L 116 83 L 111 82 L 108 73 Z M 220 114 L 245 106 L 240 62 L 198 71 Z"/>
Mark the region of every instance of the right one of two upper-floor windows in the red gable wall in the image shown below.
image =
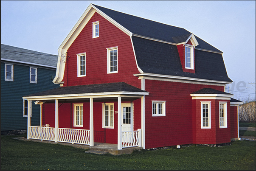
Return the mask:
<path id="1" fill-rule="evenodd" d="M 107 48 L 107 73 L 118 72 L 117 47 Z"/>

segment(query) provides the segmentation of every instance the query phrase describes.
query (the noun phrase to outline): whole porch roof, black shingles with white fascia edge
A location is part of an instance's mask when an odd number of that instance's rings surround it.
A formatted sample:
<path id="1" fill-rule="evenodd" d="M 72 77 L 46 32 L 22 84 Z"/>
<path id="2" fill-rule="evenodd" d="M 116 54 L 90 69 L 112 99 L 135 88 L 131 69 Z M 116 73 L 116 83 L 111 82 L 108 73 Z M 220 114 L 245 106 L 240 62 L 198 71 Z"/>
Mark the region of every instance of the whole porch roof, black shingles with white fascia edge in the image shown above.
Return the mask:
<path id="1" fill-rule="evenodd" d="M 117 97 L 129 96 L 138 97 L 148 95 L 145 90 L 129 85 L 125 82 L 106 83 L 106 84 L 90 84 L 68 87 L 58 87 L 39 93 L 24 96 L 23 99 L 29 100 L 51 100 L 51 99 L 67 99 L 67 98 L 97 98 L 97 97 Z"/>

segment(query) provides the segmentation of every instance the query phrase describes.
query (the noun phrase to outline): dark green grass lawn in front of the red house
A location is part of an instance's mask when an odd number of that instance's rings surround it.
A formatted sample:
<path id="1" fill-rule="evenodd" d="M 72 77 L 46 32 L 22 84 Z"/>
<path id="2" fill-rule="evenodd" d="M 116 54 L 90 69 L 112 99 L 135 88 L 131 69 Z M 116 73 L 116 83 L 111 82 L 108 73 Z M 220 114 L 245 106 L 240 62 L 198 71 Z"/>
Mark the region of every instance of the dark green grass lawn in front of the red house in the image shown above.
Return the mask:
<path id="1" fill-rule="evenodd" d="M 255 141 L 230 146 L 187 146 L 113 156 L 1 136 L 1 170 L 255 170 Z"/>

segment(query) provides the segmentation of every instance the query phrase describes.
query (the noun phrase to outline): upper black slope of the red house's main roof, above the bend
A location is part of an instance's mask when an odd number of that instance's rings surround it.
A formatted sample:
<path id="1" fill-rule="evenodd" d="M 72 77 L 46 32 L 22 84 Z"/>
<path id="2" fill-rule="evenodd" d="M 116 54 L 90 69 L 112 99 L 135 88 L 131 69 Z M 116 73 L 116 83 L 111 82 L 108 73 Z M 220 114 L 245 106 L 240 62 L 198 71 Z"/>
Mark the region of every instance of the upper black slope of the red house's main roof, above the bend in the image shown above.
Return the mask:
<path id="1" fill-rule="evenodd" d="M 184 28 L 147 20 L 141 17 L 136 17 L 133 15 L 114 11 L 94 4 L 92 5 L 98 8 L 100 11 L 104 12 L 107 16 L 109 16 L 116 22 L 118 22 L 124 28 L 132 32 L 132 34 L 137 34 L 140 36 L 145 36 L 171 43 L 184 42 L 186 41 L 186 38 L 188 38 L 191 34 L 191 32 L 187 31 Z M 197 39 L 197 42 L 199 43 L 199 45 L 197 45 L 197 48 L 222 53 L 222 51 L 203 41 L 196 35 L 195 37 Z"/>

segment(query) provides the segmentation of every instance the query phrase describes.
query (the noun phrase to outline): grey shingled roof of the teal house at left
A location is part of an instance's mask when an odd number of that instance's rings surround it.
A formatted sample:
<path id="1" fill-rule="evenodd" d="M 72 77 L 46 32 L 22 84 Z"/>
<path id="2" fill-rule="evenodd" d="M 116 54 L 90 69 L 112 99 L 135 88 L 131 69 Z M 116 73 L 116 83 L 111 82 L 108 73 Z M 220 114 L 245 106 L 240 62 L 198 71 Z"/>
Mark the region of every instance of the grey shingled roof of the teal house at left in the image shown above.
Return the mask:
<path id="1" fill-rule="evenodd" d="M 1 60 L 56 68 L 58 56 L 1 44 Z"/>

